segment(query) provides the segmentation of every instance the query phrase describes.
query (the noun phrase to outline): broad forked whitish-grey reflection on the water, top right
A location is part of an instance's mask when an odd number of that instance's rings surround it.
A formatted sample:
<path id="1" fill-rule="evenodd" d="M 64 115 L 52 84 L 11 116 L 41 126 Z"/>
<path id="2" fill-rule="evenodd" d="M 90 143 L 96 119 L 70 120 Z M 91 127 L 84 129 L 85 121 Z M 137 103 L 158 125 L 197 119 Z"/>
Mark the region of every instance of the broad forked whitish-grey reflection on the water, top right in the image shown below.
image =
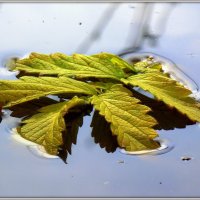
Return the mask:
<path id="1" fill-rule="evenodd" d="M 135 24 L 130 26 L 127 37 L 128 46 L 118 55 L 124 56 L 137 52 L 146 41 L 151 46 L 157 46 L 158 39 L 164 34 L 167 21 L 175 5 L 175 3 L 142 3 L 141 11 L 138 12 L 138 27 L 136 29 Z"/>

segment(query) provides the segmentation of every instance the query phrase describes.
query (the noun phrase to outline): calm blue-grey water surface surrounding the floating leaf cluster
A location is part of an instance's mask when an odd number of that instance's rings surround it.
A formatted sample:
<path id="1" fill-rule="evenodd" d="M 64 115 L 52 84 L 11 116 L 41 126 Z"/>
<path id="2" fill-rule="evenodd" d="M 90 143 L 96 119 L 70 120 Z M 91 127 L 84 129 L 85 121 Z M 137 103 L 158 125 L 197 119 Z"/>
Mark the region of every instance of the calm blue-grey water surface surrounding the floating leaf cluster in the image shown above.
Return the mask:
<path id="1" fill-rule="evenodd" d="M 29 52 L 76 52 L 111 4 L 3 3 L 0 6 L 0 78 L 12 79 L 5 61 Z M 142 3 L 120 4 L 87 53 L 123 52 L 141 37 Z M 163 8 L 170 12 L 163 16 Z M 200 3 L 160 3 L 149 22 L 155 46 L 148 37 L 139 52 L 152 52 L 174 61 L 200 86 Z M 144 20 L 143 20 L 144 21 Z M 157 24 L 156 24 L 157 23 Z M 130 31 L 133 38 L 130 38 Z M 137 34 L 136 34 L 137 33 Z M 136 38 L 136 39 L 135 39 Z M 139 41 L 139 40 L 137 40 Z M 32 154 L 11 137 L 11 118 L 0 124 L 0 197 L 199 197 L 200 128 L 159 131 L 174 148 L 161 155 L 131 156 L 106 153 L 91 137 L 90 117 L 78 134 L 68 164 Z M 191 160 L 183 161 L 183 157 Z"/>

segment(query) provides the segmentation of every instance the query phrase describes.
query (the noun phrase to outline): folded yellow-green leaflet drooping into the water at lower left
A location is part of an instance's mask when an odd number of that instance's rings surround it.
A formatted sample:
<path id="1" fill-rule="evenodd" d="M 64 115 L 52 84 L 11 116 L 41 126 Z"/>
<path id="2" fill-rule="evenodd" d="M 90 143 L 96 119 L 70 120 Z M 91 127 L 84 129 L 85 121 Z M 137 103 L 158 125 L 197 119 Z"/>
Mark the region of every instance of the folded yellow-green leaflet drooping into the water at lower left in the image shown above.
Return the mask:
<path id="1" fill-rule="evenodd" d="M 83 99 L 73 99 L 57 104 L 45 106 L 38 110 L 38 114 L 22 120 L 18 128 L 19 134 L 32 142 L 45 147 L 49 154 L 57 155 L 63 145 L 62 133 L 66 131 L 64 115 L 71 108 L 86 104 Z"/>

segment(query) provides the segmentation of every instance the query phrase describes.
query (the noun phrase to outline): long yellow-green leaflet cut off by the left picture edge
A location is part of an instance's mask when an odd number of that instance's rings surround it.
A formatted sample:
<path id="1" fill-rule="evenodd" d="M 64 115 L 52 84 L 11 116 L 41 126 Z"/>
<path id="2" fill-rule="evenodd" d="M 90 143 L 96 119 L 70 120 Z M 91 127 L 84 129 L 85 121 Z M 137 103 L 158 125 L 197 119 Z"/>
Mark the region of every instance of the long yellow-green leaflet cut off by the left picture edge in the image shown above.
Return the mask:
<path id="1" fill-rule="evenodd" d="M 13 106 L 47 95 L 55 94 L 94 95 L 96 90 L 91 85 L 67 77 L 31 77 L 20 80 L 0 81 L 0 102 Z"/>

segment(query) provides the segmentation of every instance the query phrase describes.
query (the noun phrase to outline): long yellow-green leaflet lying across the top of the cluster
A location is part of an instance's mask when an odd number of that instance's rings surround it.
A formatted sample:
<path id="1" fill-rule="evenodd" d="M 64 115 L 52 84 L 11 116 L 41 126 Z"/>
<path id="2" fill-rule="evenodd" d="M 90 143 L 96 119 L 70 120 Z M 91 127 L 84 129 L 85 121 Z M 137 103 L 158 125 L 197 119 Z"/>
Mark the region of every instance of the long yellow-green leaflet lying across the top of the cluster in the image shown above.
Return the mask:
<path id="1" fill-rule="evenodd" d="M 67 56 L 61 53 L 51 55 L 32 53 L 29 58 L 18 60 L 15 69 L 28 74 L 76 78 L 95 77 L 119 80 L 125 76 L 123 70 L 109 60 L 81 54 Z"/>

